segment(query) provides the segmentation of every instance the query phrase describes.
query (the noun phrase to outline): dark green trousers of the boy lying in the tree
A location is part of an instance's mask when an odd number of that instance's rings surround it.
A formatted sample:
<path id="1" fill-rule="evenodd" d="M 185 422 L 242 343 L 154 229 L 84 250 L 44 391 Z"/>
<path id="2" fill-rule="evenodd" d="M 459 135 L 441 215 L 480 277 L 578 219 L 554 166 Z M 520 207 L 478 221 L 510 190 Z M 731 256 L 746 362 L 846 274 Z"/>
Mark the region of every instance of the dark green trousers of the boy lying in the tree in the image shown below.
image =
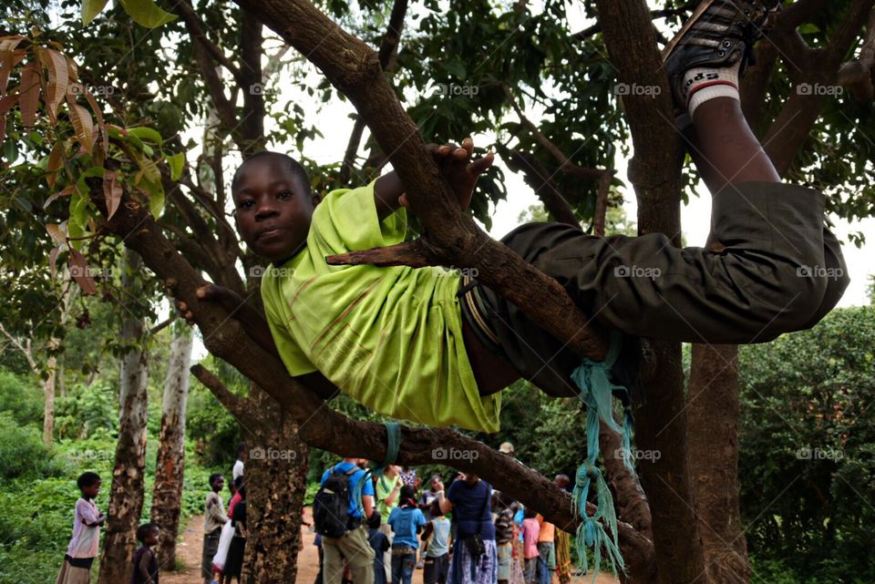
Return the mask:
<path id="1" fill-rule="evenodd" d="M 522 225 L 501 241 L 628 337 L 764 343 L 818 323 L 848 285 L 817 190 L 730 185 L 713 198 L 711 231 L 723 250 L 675 248 L 656 233 L 593 237 L 559 223 Z M 569 375 L 580 357 L 498 294 L 482 285 L 479 293 L 510 364 L 549 394 L 576 394 Z"/>

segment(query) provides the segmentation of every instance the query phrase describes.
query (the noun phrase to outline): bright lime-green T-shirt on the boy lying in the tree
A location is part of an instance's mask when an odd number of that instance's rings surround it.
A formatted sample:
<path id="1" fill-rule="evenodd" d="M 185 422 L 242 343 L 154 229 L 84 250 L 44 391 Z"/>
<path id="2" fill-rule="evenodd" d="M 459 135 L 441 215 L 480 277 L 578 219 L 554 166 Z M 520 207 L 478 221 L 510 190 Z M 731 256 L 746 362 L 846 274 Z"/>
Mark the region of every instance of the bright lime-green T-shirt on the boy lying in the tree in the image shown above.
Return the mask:
<path id="1" fill-rule="evenodd" d="M 400 243 L 406 230 L 404 209 L 377 219 L 373 182 L 329 193 L 304 250 L 262 277 L 273 341 L 289 374 L 318 369 L 380 414 L 497 432 L 500 394 L 480 397 L 462 341 L 458 272 L 325 263 Z"/>

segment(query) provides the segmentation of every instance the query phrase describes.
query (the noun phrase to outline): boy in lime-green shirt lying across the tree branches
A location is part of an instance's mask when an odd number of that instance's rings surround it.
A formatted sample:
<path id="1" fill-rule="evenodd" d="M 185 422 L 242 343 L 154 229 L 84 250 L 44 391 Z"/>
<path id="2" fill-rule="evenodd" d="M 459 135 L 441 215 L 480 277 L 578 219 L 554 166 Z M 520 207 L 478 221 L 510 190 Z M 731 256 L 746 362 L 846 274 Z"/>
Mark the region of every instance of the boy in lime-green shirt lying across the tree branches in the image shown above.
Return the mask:
<path id="1" fill-rule="evenodd" d="M 847 286 L 823 196 L 779 181 L 739 106 L 738 79 L 776 7 L 707 0 L 664 52 L 678 126 L 714 194 L 707 249 L 556 223 L 502 239 L 583 312 L 623 333 L 613 367 L 623 384 L 636 384 L 636 337 L 765 342 L 818 323 Z M 472 161 L 472 151 L 470 139 L 431 149 L 462 209 L 492 163 Z M 319 202 L 293 159 L 265 152 L 237 170 L 232 196 L 242 239 L 273 265 L 262 278 L 267 326 L 217 286 L 199 297 L 221 302 L 325 397 L 339 388 L 382 414 L 495 432 L 497 392 L 520 376 L 551 395 L 579 393 L 571 382 L 579 357 L 489 288 L 440 268 L 329 265 L 326 256 L 403 241 L 406 199 L 394 173 Z M 192 318 L 184 303 L 180 310 Z"/>

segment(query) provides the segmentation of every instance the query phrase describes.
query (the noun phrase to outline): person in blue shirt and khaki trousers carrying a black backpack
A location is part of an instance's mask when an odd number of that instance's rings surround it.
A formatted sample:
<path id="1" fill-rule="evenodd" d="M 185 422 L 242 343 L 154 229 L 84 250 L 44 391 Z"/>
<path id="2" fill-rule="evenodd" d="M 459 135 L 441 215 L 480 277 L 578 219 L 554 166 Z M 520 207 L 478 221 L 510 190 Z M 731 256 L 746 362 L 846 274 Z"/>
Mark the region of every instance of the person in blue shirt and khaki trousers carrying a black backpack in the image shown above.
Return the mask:
<path id="1" fill-rule="evenodd" d="M 358 467 L 359 458 L 344 458 L 322 476 L 322 484 L 332 474 L 349 475 L 349 501 L 346 512 L 349 516 L 346 533 L 340 538 L 322 538 L 324 584 L 341 584 L 344 562 L 353 573 L 355 584 L 374 584 L 374 549 L 367 540 L 367 529 L 362 521 L 374 512 L 374 485 L 365 479 L 365 470 Z M 362 482 L 364 480 L 364 482 Z M 362 482 L 361 507 L 356 497 L 356 486 Z"/>

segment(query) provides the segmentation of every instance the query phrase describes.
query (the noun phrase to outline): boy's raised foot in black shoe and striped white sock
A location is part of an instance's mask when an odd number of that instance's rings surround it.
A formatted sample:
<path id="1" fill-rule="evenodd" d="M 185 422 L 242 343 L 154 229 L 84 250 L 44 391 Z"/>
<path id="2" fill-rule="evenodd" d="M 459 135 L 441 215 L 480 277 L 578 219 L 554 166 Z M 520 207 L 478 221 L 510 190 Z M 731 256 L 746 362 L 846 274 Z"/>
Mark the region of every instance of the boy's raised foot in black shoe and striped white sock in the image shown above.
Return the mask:
<path id="1" fill-rule="evenodd" d="M 663 50 L 678 114 L 715 97 L 738 99 L 738 79 L 752 60 L 768 15 L 780 0 L 703 0 Z"/>

